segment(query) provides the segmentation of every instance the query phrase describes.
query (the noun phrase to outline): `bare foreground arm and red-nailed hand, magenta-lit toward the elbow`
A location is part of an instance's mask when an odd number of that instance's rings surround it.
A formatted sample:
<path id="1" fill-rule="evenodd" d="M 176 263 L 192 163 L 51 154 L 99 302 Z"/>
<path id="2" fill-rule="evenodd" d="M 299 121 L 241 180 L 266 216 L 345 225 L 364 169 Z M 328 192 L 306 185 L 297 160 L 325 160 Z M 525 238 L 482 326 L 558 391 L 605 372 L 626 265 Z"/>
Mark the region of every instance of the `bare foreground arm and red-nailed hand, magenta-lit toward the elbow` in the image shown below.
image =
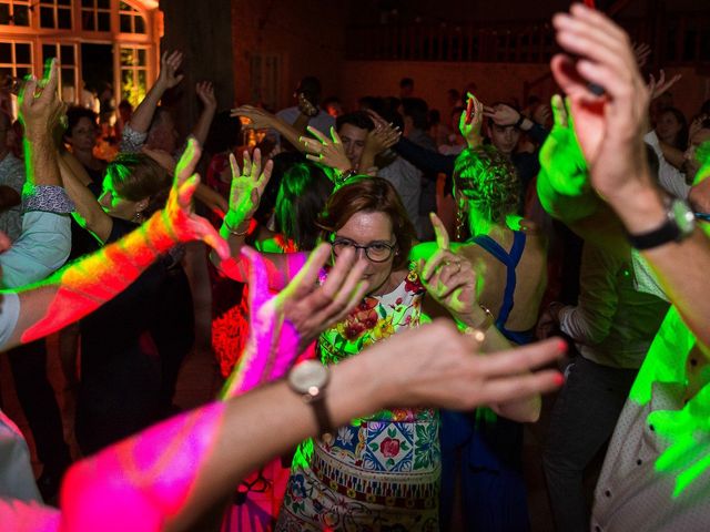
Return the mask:
<path id="1" fill-rule="evenodd" d="M 439 357 L 432 357 L 436 350 Z M 477 357 L 471 338 L 436 323 L 331 368 L 335 426 L 397 405 L 471 409 L 548 391 L 557 371 L 518 375 L 557 358 L 559 340 Z M 68 530 L 190 530 L 248 471 L 316 436 L 312 408 L 286 383 L 174 418 L 74 464 L 62 485 Z M 276 436 L 275 436 L 276 434 Z"/>

